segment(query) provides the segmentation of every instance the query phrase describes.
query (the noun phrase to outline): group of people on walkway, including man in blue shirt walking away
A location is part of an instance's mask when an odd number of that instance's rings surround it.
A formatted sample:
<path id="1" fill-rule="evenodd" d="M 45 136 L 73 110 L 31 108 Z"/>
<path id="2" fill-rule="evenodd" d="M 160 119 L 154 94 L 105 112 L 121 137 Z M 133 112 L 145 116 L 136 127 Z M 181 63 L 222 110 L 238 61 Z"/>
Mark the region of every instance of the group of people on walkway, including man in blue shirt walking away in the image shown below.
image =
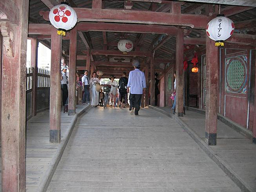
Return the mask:
<path id="1" fill-rule="evenodd" d="M 140 110 L 141 96 L 145 93 L 146 81 L 145 75 L 140 71 L 140 63 L 138 60 L 133 60 L 132 65 L 134 70 L 129 73 L 129 78 L 126 77 L 126 73 L 123 72 L 122 77 L 119 82 L 115 80 L 115 76 L 111 75 L 108 83 L 103 86 L 111 87 L 110 97 L 112 103 L 116 103 L 117 94 L 119 91 L 119 106 L 128 106 L 127 93 L 130 93 L 130 108 L 131 114 L 138 115 Z M 97 77 L 96 72 L 93 72 L 92 78 L 89 79 L 88 71 L 84 71 L 84 76 L 82 77 L 82 90 L 83 90 L 83 104 L 90 104 L 90 90 L 92 94 L 92 106 L 103 105 L 102 101 L 104 99 L 104 93 L 102 90 L 100 92 L 97 89 L 100 86 L 100 79 Z M 118 89 L 118 90 L 117 90 Z M 115 104 L 113 104 L 115 108 Z"/>

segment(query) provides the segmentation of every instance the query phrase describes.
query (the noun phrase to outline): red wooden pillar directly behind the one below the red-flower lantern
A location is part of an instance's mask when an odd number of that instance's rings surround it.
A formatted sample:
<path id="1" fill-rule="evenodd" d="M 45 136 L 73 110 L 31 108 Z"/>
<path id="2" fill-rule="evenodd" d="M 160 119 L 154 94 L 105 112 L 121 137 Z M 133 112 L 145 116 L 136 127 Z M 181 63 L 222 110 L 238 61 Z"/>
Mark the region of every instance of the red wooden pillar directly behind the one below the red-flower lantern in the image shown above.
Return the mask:
<path id="1" fill-rule="evenodd" d="M 68 115 L 75 115 L 76 113 L 76 50 L 77 50 L 77 28 L 75 27 L 70 31 Z"/>

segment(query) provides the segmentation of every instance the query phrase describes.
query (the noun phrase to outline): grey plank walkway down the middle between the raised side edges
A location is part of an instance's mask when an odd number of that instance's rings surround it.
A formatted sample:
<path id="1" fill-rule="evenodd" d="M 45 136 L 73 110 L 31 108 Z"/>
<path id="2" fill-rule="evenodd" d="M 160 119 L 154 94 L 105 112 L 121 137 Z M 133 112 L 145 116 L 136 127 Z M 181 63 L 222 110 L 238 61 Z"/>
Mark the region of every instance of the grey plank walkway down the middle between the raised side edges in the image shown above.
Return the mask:
<path id="1" fill-rule="evenodd" d="M 241 191 L 175 119 L 151 109 L 91 108 L 48 191 Z"/>

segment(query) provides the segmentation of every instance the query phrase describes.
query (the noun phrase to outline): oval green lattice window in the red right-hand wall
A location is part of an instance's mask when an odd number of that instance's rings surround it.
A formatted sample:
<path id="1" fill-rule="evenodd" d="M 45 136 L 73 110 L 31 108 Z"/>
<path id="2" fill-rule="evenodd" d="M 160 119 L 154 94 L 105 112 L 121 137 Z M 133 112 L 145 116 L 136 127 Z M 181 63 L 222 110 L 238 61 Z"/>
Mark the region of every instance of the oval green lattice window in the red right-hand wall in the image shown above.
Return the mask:
<path id="1" fill-rule="evenodd" d="M 227 60 L 226 90 L 232 92 L 243 92 L 246 82 L 246 65 L 242 59 Z"/>

